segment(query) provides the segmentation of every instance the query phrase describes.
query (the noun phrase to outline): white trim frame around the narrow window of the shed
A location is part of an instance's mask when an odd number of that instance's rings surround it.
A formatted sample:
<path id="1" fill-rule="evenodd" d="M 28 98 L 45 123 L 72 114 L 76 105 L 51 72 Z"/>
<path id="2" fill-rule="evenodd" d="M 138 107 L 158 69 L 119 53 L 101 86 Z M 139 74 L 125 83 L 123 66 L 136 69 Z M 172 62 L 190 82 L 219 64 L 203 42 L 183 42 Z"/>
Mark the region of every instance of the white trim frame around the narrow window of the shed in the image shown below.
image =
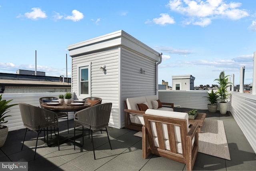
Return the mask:
<path id="1" fill-rule="evenodd" d="M 92 79 L 91 79 L 91 75 L 92 75 L 92 70 L 91 70 L 91 62 L 85 62 L 82 64 L 78 64 L 77 65 L 77 91 L 78 91 L 78 96 L 80 98 L 86 98 L 86 97 L 91 97 L 92 95 Z M 80 89 L 80 68 L 84 68 L 84 67 L 88 67 L 88 95 L 87 94 L 82 94 L 81 95 L 81 89 Z"/>

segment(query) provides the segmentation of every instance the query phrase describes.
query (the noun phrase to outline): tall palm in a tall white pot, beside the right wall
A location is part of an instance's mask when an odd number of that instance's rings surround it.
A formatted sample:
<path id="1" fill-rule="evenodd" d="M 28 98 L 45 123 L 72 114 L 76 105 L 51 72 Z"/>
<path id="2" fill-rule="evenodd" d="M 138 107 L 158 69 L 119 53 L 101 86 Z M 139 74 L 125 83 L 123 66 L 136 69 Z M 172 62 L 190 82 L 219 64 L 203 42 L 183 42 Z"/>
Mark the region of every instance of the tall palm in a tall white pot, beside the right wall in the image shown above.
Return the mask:
<path id="1" fill-rule="evenodd" d="M 225 101 L 230 94 L 227 94 L 227 88 L 231 86 L 232 83 L 228 82 L 228 76 L 225 76 L 225 72 L 222 71 L 220 72 L 219 78 L 216 78 L 214 81 L 218 81 L 217 83 L 219 84 L 218 86 L 218 94 L 220 95 L 221 102 L 220 104 L 220 113 L 221 114 L 226 114 L 227 113 L 227 108 L 228 108 L 228 103 Z"/>

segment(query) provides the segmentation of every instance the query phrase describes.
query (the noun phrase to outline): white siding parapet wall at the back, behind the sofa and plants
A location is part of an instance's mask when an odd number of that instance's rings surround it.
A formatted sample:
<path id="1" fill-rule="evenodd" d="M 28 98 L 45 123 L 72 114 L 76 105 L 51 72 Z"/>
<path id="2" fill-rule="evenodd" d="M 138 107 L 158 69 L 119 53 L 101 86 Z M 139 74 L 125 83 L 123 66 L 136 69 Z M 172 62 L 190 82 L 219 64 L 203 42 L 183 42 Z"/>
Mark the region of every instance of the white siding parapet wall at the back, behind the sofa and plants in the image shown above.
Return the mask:
<path id="1" fill-rule="evenodd" d="M 206 99 L 206 96 L 208 96 L 207 92 L 210 93 L 210 91 L 206 90 L 158 90 L 158 98 L 162 102 L 174 103 L 174 107 L 207 110 L 207 104 L 209 103 Z M 230 111 L 229 100 L 228 111 Z"/>

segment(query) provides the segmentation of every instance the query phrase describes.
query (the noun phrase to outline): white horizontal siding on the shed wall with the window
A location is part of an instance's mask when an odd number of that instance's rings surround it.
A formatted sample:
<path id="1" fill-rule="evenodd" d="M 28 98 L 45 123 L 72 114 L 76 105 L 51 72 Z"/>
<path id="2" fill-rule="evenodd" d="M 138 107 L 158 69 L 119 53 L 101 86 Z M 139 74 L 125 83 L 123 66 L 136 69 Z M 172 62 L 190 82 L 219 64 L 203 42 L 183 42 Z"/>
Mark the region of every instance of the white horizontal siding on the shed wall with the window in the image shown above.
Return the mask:
<path id="1" fill-rule="evenodd" d="M 119 49 L 111 48 L 95 51 L 81 56 L 72 57 L 72 91 L 78 92 L 77 66 L 91 62 L 91 95 L 102 98 L 102 103 L 112 103 L 109 126 L 119 127 Z M 101 72 L 101 66 L 106 65 L 106 72 Z M 83 99 L 85 96 L 78 96 Z"/>

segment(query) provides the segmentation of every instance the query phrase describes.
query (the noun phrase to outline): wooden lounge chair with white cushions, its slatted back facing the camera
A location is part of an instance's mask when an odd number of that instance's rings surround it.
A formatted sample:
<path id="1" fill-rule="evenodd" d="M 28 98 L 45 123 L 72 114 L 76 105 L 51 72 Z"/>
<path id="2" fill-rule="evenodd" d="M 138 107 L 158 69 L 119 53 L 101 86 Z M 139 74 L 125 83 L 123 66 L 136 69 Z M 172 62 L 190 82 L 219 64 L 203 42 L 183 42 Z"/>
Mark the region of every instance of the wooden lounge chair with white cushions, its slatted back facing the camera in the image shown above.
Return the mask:
<path id="1" fill-rule="evenodd" d="M 192 170 L 198 153 L 198 123 L 189 130 L 188 113 L 173 111 L 147 109 L 143 117 L 142 157 L 153 153 L 185 163 L 187 171 Z"/>

